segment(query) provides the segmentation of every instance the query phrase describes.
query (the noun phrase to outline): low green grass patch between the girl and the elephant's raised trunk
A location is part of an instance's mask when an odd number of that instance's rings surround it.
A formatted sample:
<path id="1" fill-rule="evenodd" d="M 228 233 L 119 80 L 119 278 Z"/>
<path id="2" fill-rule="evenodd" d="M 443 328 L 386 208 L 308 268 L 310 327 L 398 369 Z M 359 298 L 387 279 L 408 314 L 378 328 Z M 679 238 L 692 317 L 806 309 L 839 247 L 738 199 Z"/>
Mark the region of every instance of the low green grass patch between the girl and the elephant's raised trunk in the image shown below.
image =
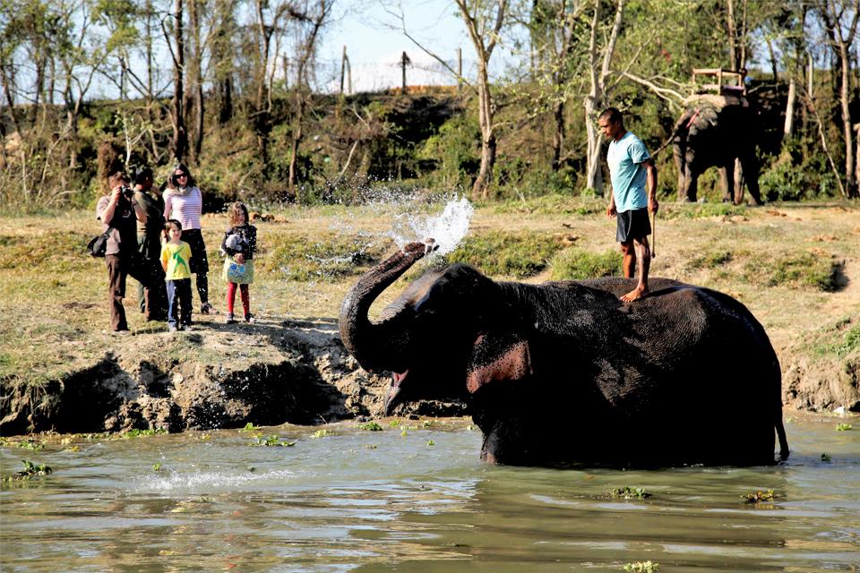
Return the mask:
<path id="1" fill-rule="evenodd" d="M 390 244 L 360 236 L 322 235 L 313 240 L 296 235 L 271 237 L 267 256 L 257 268 L 281 278 L 308 282 L 335 282 L 357 276 L 372 267 Z"/>

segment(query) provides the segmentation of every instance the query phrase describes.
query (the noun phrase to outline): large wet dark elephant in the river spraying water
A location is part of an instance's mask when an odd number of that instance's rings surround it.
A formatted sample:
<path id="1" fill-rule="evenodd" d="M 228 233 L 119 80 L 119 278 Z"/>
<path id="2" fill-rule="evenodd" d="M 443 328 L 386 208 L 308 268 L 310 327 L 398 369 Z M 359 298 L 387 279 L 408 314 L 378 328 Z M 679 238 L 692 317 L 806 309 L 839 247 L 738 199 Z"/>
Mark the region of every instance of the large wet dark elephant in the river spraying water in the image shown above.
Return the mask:
<path id="1" fill-rule="evenodd" d="M 411 243 L 360 278 L 340 337 L 393 372 L 385 413 L 464 398 L 481 458 L 518 466 L 753 466 L 788 444 L 770 339 L 734 298 L 667 278 L 632 304 L 632 279 L 529 285 L 455 264 L 417 278 L 378 322 L 374 299 L 433 250 Z"/>

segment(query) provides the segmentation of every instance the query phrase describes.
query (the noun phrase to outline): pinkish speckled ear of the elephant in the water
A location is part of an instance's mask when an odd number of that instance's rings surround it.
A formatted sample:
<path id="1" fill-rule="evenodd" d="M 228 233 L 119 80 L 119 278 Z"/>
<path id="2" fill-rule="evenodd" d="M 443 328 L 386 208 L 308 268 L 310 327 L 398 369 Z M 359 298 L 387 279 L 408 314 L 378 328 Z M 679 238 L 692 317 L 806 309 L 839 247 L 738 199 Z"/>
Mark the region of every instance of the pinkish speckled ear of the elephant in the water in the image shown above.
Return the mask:
<path id="1" fill-rule="evenodd" d="M 531 374 L 529 342 L 512 334 L 480 334 L 472 347 L 466 388 L 470 394 L 491 381 L 517 381 Z"/>

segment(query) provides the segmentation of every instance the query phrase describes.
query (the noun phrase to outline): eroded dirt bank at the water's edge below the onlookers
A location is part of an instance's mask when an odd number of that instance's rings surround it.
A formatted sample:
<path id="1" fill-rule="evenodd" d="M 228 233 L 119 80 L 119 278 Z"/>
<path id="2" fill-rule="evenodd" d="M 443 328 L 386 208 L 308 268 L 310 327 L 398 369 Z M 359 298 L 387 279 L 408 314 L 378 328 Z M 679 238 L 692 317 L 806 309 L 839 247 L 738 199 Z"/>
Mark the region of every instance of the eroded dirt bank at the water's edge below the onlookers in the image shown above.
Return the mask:
<path id="1" fill-rule="evenodd" d="M 3 381 L 0 434 L 328 423 L 380 415 L 387 385 L 348 355 L 334 320 L 139 334 L 39 389 Z M 400 413 L 463 415 L 464 406 L 423 402 Z"/>

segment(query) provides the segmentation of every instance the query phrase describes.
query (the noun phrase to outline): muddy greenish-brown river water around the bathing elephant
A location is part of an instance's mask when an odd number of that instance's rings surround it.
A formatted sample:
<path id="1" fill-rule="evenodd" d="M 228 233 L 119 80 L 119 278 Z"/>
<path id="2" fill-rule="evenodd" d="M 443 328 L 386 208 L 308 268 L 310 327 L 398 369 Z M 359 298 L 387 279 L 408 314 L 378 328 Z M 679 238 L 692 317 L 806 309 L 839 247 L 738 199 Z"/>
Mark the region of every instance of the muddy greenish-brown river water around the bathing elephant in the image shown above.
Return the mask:
<path id="1" fill-rule="evenodd" d="M 860 423 L 787 424 L 784 466 L 484 466 L 464 421 L 402 435 L 329 426 L 0 448 L 55 473 L 0 492 L 3 571 L 852 571 Z M 691 431 L 694 429 L 691 429 Z M 564 440 L 563 436 L 547 439 Z M 822 462 L 827 453 L 830 462 Z M 153 466 L 160 464 L 160 471 Z M 624 486 L 652 494 L 611 499 Z M 741 496 L 772 489 L 776 499 Z"/>

